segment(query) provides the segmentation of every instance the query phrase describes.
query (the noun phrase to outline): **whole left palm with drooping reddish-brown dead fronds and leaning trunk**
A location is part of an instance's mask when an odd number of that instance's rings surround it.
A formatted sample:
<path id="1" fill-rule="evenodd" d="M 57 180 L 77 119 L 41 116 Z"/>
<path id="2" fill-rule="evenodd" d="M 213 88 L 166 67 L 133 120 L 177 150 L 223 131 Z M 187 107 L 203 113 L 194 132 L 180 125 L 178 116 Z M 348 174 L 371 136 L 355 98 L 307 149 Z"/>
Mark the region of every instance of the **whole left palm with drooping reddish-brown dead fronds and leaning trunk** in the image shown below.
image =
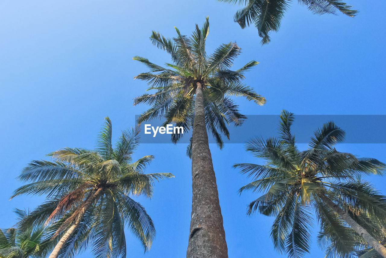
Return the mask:
<path id="1" fill-rule="evenodd" d="M 124 225 L 149 250 L 155 236 L 153 221 L 130 195 L 150 198 L 155 180 L 172 178 L 170 173 L 143 174 L 154 156 L 132 161 L 139 145 L 139 131 L 125 130 L 112 146 L 108 117 L 95 150 L 64 148 L 54 151 L 54 161 L 32 161 L 19 176 L 32 181 L 14 195 L 47 194 L 21 225 L 50 223 L 47 231 L 53 251 L 49 258 L 73 257 L 93 245 L 96 257 L 125 257 Z M 52 250 L 52 249 L 51 249 Z"/>

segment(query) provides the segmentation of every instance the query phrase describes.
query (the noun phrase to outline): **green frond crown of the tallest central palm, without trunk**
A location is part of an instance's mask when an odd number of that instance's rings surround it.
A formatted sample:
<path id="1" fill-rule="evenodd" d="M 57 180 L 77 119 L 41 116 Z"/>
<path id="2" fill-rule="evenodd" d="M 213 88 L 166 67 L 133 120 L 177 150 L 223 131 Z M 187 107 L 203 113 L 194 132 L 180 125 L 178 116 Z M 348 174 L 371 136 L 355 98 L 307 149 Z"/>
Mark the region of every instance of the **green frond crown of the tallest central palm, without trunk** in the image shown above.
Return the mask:
<path id="1" fill-rule="evenodd" d="M 252 60 L 240 69 L 230 70 L 233 60 L 241 53 L 235 42 L 222 44 L 212 55 L 208 55 L 205 51 L 205 41 L 209 33 L 208 18 L 201 29 L 196 24 L 191 37 L 182 35 L 177 28 L 176 32 L 177 36 L 173 39 L 155 31 L 150 37 L 152 44 L 171 55 L 173 64 L 166 63 L 167 68 L 153 64 L 144 57 L 133 58 L 150 70 L 134 79 L 147 81 L 147 90 L 156 91 L 154 94 L 135 98 L 134 105 L 145 103 L 152 106 L 141 114 L 138 122 L 165 118 L 164 125 L 175 123 L 176 126 L 182 126 L 184 132 L 189 131 L 194 121 L 196 84 L 200 83 L 203 87 L 207 129 L 222 148 L 221 134 L 229 139 L 227 125 L 232 123 L 239 126 L 246 118 L 240 114 L 230 96 L 243 96 L 259 105 L 265 103 L 264 97 L 242 82 L 245 79 L 244 73 L 258 62 Z M 171 140 L 176 143 L 181 137 L 181 134 L 172 134 Z M 190 147 L 188 155 L 189 153 Z"/>

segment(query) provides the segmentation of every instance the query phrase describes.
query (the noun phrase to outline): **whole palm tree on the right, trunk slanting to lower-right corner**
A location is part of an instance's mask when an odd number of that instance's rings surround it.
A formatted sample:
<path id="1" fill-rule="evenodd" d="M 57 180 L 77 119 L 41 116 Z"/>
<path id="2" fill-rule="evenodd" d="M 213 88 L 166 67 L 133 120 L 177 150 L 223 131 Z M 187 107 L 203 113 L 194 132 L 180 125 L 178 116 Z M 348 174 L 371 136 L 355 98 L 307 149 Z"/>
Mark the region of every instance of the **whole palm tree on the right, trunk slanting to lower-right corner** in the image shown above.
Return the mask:
<path id="1" fill-rule="evenodd" d="M 286 251 L 289 257 L 309 251 L 312 209 L 320 224 L 318 243 L 327 248 L 327 257 L 352 257 L 364 246 L 386 257 L 386 248 L 376 240 L 385 236 L 386 197 L 359 178 L 383 175 L 385 164 L 337 151 L 334 145 L 344 141 L 345 132 L 334 122 L 317 129 L 309 148 L 299 151 L 291 133 L 293 121 L 293 114 L 282 111 L 278 138 L 246 143 L 246 150 L 266 164 L 234 165 L 254 179 L 240 193 L 264 193 L 249 204 L 248 214 L 258 210 L 276 217 L 271 238 L 276 250 Z"/>

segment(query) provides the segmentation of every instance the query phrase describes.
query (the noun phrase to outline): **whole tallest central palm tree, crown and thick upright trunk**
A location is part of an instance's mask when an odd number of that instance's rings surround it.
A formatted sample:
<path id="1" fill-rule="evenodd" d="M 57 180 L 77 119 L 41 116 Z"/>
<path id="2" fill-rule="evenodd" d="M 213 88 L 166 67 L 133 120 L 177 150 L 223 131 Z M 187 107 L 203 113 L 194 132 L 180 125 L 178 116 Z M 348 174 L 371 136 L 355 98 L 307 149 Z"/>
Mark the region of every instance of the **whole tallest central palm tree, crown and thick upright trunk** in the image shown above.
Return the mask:
<path id="1" fill-rule="evenodd" d="M 196 25 L 191 37 L 181 35 L 177 28 L 176 32 L 173 39 L 154 31 L 150 37 L 154 45 L 171 55 L 173 64 L 166 64 L 168 68 L 143 57 L 133 58 L 150 69 L 135 78 L 147 81 L 148 90 L 156 91 L 137 97 L 134 105 L 152 105 L 141 114 L 139 123 L 161 117 L 166 120 L 165 124 L 182 126 L 184 132 L 193 128 L 187 150 L 192 159 L 193 180 L 187 257 L 226 258 L 227 244 L 207 130 L 222 148 L 221 133 L 229 139 L 227 124 L 240 126 L 246 118 L 230 96 L 243 96 L 264 104 L 263 97 L 242 83 L 244 72 L 258 63 L 252 60 L 238 70 L 230 70 L 241 51 L 235 42 L 222 44 L 212 55 L 207 55 L 208 18 L 201 29 Z M 182 134 L 172 134 L 171 140 L 176 143 L 181 137 Z"/>

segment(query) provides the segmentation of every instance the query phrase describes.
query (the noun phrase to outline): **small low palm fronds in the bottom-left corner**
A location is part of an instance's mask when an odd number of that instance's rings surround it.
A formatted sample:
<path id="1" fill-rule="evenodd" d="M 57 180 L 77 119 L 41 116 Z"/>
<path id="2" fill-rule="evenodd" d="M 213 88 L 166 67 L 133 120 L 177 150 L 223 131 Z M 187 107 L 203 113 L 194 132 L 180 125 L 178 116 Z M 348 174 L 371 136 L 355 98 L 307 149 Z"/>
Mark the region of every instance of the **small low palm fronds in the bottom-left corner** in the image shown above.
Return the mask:
<path id="1" fill-rule="evenodd" d="M 19 221 L 28 215 L 26 211 L 20 209 L 15 209 L 15 213 Z M 29 227 L 26 230 L 18 228 L 0 230 L 0 257 L 40 257 L 38 253 L 45 248 L 42 241 L 44 236 L 44 226 Z"/>

